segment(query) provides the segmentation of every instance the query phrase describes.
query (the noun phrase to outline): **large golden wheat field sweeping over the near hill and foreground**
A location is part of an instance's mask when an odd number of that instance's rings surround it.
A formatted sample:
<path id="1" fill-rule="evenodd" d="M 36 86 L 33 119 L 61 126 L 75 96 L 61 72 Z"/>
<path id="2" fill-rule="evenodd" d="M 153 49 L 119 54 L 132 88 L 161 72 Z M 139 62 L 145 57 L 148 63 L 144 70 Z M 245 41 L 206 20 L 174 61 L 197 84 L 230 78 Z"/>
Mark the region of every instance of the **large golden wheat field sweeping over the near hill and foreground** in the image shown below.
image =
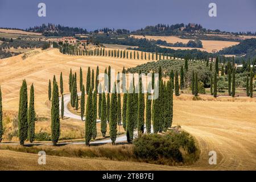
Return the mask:
<path id="1" fill-rule="evenodd" d="M 50 130 L 50 107 L 48 101 L 48 80 L 53 75 L 59 80 L 63 72 L 64 92 L 68 93 L 68 75 L 72 68 L 77 72 L 83 69 L 84 82 L 86 71 L 94 70 L 97 65 L 100 72 L 110 65 L 116 71 L 135 67 L 148 60 L 115 59 L 96 56 L 62 55 L 58 49 L 46 51 L 36 50 L 22 59 L 22 55 L 2 59 L 0 61 L 0 84 L 2 89 L 3 113 L 7 117 L 18 111 L 19 88 L 22 79 L 27 84 L 34 83 L 36 114 L 46 117 L 46 121 L 36 122 L 36 132 Z M 29 91 L 30 86 L 28 86 Z M 217 169 L 256 169 L 256 98 L 229 98 L 200 96 L 201 100 L 194 101 L 192 96 L 174 97 L 173 125 L 180 125 L 196 138 L 200 147 L 200 159 L 191 166 L 161 166 L 147 163 L 112 161 L 107 159 L 68 158 L 47 156 L 47 165 L 39 166 L 38 155 L 0 150 L 0 169 L 91 169 L 91 170 L 217 170 Z M 11 127 L 11 125 L 8 125 Z M 63 132 L 65 130 L 65 132 Z M 84 123 L 75 119 L 61 120 L 61 132 L 72 136 L 75 131 L 77 138 L 84 133 Z M 71 134 L 68 134 L 71 133 Z M 63 134 L 62 134 L 63 135 Z M 62 136 L 62 138 L 67 138 Z M 209 151 L 217 152 L 217 165 L 209 165 Z"/>

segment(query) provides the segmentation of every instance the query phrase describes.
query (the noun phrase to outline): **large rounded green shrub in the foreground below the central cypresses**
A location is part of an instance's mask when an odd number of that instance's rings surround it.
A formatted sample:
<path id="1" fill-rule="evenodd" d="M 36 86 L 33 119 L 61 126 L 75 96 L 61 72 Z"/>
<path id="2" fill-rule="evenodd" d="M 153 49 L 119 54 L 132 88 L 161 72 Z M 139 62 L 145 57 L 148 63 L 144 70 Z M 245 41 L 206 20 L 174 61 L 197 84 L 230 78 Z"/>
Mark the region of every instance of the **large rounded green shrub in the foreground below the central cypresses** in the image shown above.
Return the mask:
<path id="1" fill-rule="evenodd" d="M 193 137 L 181 131 L 164 135 L 145 134 L 134 140 L 134 155 L 144 162 L 157 164 L 193 163 L 198 158 Z"/>

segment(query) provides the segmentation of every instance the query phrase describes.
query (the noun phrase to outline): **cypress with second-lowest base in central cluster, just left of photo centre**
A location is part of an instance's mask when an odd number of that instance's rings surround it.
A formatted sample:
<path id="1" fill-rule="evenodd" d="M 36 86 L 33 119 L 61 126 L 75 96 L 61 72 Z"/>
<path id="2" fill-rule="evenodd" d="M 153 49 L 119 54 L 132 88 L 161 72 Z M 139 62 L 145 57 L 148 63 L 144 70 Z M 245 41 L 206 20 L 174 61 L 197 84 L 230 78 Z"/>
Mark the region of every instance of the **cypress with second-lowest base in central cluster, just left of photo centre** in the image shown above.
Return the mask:
<path id="1" fill-rule="evenodd" d="M 117 139 L 117 93 L 115 92 L 115 83 L 110 102 L 109 130 L 110 139 L 114 144 L 115 139 Z"/>

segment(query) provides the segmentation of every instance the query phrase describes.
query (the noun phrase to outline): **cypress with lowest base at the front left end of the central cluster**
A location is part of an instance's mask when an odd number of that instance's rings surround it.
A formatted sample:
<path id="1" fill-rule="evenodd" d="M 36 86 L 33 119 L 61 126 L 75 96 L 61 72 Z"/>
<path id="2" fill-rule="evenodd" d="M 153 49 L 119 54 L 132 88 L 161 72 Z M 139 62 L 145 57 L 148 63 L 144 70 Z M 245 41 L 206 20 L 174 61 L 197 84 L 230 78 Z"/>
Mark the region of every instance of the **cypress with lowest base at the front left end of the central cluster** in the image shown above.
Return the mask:
<path id="1" fill-rule="evenodd" d="M 90 86 L 87 101 L 86 101 L 86 117 L 85 117 L 86 146 L 90 145 L 90 140 L 92 139 L 92 126 L 93 126 L 93 93 L 92 93 L 92 86 Z"/>

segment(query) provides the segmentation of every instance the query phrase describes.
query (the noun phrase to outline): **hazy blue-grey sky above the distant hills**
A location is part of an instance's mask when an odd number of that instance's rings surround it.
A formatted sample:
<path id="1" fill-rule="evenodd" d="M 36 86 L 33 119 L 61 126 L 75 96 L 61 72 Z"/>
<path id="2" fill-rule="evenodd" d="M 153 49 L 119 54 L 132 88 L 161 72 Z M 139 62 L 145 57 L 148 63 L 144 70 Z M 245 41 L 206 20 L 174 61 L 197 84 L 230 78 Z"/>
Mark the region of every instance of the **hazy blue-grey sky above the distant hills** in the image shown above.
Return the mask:
<path id="1" fill-rule="evenodd" d="M 46 17 L 38 3 L 46 3 Z M 209 3 L 217 17 L 209 17 Z M 42 23 L 94 30 L 136 30 L 157 23 L 200 23 L 223 31 L 256 31 L 255 0 L 0 0 L 0 27 L 28 28 Z"/>

